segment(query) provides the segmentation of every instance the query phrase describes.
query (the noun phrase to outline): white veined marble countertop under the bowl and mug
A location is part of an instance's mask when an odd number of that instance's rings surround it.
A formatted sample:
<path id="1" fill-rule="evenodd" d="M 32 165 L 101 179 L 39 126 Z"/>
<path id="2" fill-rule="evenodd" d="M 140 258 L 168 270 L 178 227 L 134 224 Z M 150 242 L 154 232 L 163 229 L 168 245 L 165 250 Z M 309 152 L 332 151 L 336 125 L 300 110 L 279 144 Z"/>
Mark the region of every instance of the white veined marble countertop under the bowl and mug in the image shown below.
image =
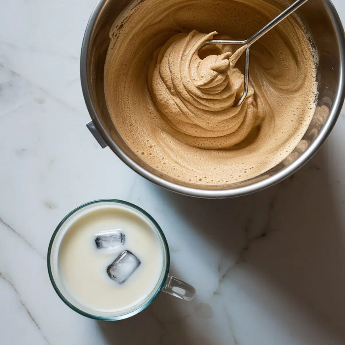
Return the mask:
<path id="1" fill-rule="evenodd" d="M 96 0 L 0 2 L 0 343 L 345 344 L 345 112 L 292 178 L 226 200 L 146 181 L 86 128 L 79 52 Z M 345 22 L 345 3 L 334 0 Z M 171 270 L 197 290 L 98 322 L 56 295 L 46 253 L 59 221 L 100 198 L 165 231 Z"/>

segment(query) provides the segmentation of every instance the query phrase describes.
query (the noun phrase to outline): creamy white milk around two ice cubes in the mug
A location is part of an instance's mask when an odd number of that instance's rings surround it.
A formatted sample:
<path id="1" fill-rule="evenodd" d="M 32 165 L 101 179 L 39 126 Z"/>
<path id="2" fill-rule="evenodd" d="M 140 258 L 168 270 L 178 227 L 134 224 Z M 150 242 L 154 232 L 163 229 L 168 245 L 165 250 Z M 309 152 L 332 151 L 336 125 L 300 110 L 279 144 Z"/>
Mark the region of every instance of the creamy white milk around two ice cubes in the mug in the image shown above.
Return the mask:
<path id="1" fill-rule="evenodd" d="M 63 236 L 58 254 L 60 278 L 80 304 L 99 312 L 125 313 L 155 289 L 164 269 L 162 243 L 145 217 L 125 205 L 97 207 L 76 219 Z M 96 234 L 118 229 L 125 234 L 124 245 L 97 249 Z M 107 267 L 124 250 L 136 255 L 141 264 L 119 284 L 108 276 Z"/>

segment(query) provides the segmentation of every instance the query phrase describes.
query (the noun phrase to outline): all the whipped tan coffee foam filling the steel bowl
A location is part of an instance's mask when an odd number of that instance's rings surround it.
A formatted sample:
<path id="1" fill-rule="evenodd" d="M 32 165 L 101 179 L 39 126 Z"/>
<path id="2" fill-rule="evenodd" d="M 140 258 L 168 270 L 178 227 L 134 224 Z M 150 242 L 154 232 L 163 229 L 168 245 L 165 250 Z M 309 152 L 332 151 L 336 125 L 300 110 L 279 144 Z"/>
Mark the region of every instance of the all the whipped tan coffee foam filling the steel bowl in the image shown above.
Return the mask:
<path id="1" fill-rule="evenodd" d="M 105 64 L 109 114 L 151 167 L 187 183 L 224 185 L 263 174 L 302 139 L 315 111 L 316 58 L 287 18 L 244 56 L 208 39 L 246 39 L 286 8 L 272 1 L 145 0 L 118 18 Z M 218 34 L 217 34 L 218 33 Z"/>

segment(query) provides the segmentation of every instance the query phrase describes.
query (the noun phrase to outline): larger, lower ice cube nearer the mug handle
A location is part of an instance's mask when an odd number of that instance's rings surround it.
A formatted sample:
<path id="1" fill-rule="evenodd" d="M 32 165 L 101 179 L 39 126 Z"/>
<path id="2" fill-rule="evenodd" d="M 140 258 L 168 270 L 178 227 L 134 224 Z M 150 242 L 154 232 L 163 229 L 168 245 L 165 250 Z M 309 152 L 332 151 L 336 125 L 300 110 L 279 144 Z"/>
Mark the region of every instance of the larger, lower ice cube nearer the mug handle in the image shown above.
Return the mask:
<path id="1" fill-rule="evenodd" d="M 122 284 L 138 268 L 140 260 L 129 250 L 122 252 L 107 268 L 109 277 Z"/>

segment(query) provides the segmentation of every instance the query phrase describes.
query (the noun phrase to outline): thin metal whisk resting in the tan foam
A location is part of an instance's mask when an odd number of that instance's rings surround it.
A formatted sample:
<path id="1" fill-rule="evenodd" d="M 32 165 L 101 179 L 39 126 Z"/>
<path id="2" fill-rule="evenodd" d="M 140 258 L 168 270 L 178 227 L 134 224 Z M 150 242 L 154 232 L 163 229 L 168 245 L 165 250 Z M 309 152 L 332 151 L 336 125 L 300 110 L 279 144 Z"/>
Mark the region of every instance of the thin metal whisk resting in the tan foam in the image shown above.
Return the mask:
<path id="1" fill-rule="evenodd" d="M 242 45 L 247 46 L 246 49 L 246 62 L 245 62 L 245 72 L 244 72 L 244 92 L 235 107 L 240 106 L 248 95 L 249 87 L 249 55 L 250 55 L 250 46 L 256 42 L 259 38 L 264 36 L 269 30 L 273 29 L 277 24 L 282 20 L 288 17 L 290 14 L 294 13 L 300 6 L 306 3 L 308 0 L 297 0 L 290 7 L 288 7 L 284 12 L 280 13 L 279 16 L 270 21 L 266 26 L 256 32 L 252 37 L 244 41 L 239 40 L 208 40 L 200 48 L 208 46 L 210 44 L 233 44 L 233 45 Z"/>

